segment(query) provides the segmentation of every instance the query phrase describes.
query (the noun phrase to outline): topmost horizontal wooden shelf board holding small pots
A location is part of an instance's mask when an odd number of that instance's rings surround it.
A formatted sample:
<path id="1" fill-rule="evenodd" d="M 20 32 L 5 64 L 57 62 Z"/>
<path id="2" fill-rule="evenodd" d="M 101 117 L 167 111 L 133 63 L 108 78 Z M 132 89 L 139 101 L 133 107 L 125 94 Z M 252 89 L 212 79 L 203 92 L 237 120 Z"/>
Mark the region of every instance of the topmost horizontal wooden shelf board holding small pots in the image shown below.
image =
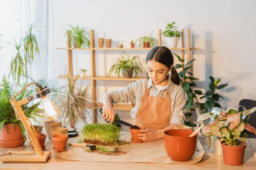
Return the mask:
<path id="1" fill-rule="evenodd" d="M 151 48 L 56 48 L 58 50 L 119 50 L 119 51 L 126 51 L 126 50 L 131 50 L 131 51 L 140 51 L 140 50 L 151 50 Z M 169 48 L 170 50 L 188 50 L 189 48 Z M 191 50 L 199 50 L 199 48 L 190 48 Z"/>

